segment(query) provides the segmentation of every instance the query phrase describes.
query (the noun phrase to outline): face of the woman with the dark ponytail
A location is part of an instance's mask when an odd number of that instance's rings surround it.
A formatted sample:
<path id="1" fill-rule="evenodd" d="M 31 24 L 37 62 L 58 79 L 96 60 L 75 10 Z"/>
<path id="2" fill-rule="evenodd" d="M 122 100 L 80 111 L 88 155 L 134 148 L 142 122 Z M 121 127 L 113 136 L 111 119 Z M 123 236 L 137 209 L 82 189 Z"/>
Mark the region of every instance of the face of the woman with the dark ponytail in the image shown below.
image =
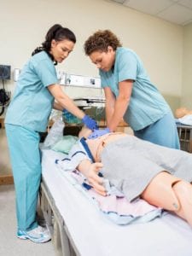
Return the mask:
<path id="1" fill-rule="evenodd" d="M 61 63 L 73 51 L 74 43 L 70 40 L 51 42 L 50 54 L 54 56 L 54 60 Z"/>

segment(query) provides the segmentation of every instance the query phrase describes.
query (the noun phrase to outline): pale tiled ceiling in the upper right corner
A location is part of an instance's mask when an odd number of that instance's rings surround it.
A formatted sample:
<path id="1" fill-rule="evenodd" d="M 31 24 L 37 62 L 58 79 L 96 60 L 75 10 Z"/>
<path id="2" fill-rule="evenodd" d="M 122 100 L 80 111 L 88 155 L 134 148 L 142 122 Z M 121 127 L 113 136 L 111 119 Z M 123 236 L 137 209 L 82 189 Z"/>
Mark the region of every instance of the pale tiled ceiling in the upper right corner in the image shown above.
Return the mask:
<path id="1" fill-rule="evenodd" d="M 192 0 L 110 0 L 178 25 L 192 22 Z"/>

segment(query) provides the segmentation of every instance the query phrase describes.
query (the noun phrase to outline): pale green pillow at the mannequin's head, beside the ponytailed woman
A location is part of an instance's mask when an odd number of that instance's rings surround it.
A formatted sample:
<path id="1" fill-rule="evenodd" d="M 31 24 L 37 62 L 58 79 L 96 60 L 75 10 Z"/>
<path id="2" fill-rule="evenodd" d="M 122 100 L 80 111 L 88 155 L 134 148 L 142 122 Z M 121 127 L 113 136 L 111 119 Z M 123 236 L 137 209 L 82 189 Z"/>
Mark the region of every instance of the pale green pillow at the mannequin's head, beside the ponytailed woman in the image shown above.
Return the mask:
<path id="1" fill-rule="evenodd" d="M 56 143 L 51 149 L 61 152 L 64 154 L 68 154 L 70 149 L 73 147 L 74 143 L 78 141 L 78 137 L 72 136 L 72 135 L 66 135 L 64 136 L 61 141 Z"/>

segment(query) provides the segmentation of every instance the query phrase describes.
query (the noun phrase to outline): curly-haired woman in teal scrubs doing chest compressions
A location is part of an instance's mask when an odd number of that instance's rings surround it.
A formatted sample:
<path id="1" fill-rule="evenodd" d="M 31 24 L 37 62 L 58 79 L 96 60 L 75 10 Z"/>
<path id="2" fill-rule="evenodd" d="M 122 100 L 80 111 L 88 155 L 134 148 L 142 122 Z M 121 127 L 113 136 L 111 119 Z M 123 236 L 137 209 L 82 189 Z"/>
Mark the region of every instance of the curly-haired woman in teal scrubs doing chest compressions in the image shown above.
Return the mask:
<path id="1" fill-rule="evenodd" d="M 90 137 L 115 131 L 122 119 L 135 136 L 169 148 L 179 148 L 172 111 L 151 83 L 143 62 L 131 49 L 121 46 L 108 30 L 97 31 L 84 43 L 84 51 L 99 68 L 106 97 L 108 128 Z"/>

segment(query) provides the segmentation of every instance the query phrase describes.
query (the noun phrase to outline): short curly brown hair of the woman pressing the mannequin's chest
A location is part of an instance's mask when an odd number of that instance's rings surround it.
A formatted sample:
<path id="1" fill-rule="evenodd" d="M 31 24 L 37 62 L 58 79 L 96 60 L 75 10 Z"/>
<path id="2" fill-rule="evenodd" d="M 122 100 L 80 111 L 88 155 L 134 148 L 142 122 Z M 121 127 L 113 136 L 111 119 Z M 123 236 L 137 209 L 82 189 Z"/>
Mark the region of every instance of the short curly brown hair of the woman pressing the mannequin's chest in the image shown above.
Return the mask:
<path id="1" fill-rule="evenodd" d="M 85 55 L 90 55 L 96 50 L 108 51 L 108 46 L 111 46 L 113 50 L 122 46 L 119 39 L 110 30 L 98 30 L 84 43 Z"/>

